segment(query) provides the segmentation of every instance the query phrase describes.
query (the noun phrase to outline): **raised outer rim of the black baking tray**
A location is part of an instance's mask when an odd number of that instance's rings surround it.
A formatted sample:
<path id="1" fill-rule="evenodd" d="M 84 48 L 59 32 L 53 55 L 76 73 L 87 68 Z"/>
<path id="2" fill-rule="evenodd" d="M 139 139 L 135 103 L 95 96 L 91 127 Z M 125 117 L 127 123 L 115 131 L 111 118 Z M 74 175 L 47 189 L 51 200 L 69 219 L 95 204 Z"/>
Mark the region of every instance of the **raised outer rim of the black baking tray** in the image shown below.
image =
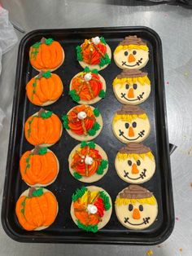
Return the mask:
<path id="1" fill-rule="evenodd" d="M 10 137 L 9 137 L 9 143 L 8 143 L 8 151 L 7 151 L 7 160 L 11 159 L 13 156 L 13 148 L 15 145 L 15 125 L 17 123 L 17 114 L 18 114 L 18 108 L 19 104 L 17 104 L 18 100 L 18 94 L 19 94 L 19 82 L 21 79 L 21 72 L 20 69 L 22 67 L 21 63 L 23 62 L 23 54 L 24 54 L 24 46 L 25 43 L 28 42 L 28 38 L 33 37 L 34 35 L 37 36 L 38 33 L 51 33 L 51 32 L 61 32 L 61 33 L 78 33 L 85 32 L 89 33 L 98 31 L 99 33 L 102 32 L 112 32 L 112 30 L 115 30 L 115 32 L 124 32 L 126 33 L 127 30 L 143 30 L 146 33 L 151 33 L 153 37 L 157 40 L 157 46 L 159 47 L 159 55 L 162 56 L 159 61 L 158 65 L 158 73 L 159 73 L 159 80 L 161 81 L 162 85 L 162 104 L 161 104 L 161 113 L 164 113 L 164 143 L 166 146 L 166 156 L 169 156 L 168 154 L 168 120 L 167 120 L 167 109 L 166 109 L 166 100 L 165 100 L 165 88 L 164 88 L 164 66 L 163 66 L 163 51 L 162 51 L 162 42 L 159 38 L 159 34 L 155 32 L 155 30 L 146 27 L 146 26 L 118 26 L 118 27 L 94 27 L 94 28 L 72 28 L 72 29 L 35 29 L 30 32 L 28 32 L 24 38 L 21 39 L 19 49 L 18 49 L 18 55 L 17 55 L 17 64 L 16 64 L 16 73 L 15 73 L 15 87 L 14 87 L 14 96 L 13 96 L 13 106 L 12 106 L 12 113 L 11 113 L 11 129 L 10 129 Z M 161 72 L 159 72 L 161 71 Z M 159 108 L 160 108 L 159 107 Z M 148 241 L 134 241 L 134 239 L 129 237 L 129 241 L 120 241 L 119 237 L 116 240 L 113 240 L 114 237 L 110 237 L 110 240 L 107 239 L 107 236 L 100 237 L 99 241 L 96 241 L 94 237 L 81 237 L 81 240 L 79 236 L 49 236 L 49 241 L 47 241 L 46 237 L 39 236 L 38 238 L 33 238 L 33 236 L 24 236 L 24 235 L 18 235 L 16 232 L 14 232 L 10 226 L 9 220 L 7 218 L 7 193 L 9 191 L 10 182 L 9 182 L 9 175 L 11 172 L 11 161 L 7 161 L 6 166 L 6 174 L 5 174 L 5 181 L 4 181 L 4 188 L 3 188 L 3 196 L 2 196 L 2 213 L 1 213 L 1 221 L 2 221 L 2 227 L 4 231 L 7 233 L 7 236 L 10 236 L 11 239 L 14 241 L 19 242 L 26 242 L 26 243 L 63 243 L 63 244 L 103 244 L 103 245 L 159 245 L 160 243 L 163 243 L 165 240 L 168 239 L 168 236 L 171 235 L 174 223 L 175 223 L 175 214 L 174 214 L 174 205 L 173 205 L 173 193 L 172 193 L 172 175 L 171 175 L 171 165 L 170 165 L 170 157 L 167 157 L 167 166 L 168 166 L 168 178 L 165 179 L 166 183 L 166 194 L 168 196 L 167 200 L 172 202 L 169 206 L 170 208 L 170 214 L 169 214 L 169 222 L 166 223 L 166 227 L 164 228 L 164 232 L 160 234 L 160 236 L 152 237 Z M 168 181 L 169 180 L 169 181 Z"/>

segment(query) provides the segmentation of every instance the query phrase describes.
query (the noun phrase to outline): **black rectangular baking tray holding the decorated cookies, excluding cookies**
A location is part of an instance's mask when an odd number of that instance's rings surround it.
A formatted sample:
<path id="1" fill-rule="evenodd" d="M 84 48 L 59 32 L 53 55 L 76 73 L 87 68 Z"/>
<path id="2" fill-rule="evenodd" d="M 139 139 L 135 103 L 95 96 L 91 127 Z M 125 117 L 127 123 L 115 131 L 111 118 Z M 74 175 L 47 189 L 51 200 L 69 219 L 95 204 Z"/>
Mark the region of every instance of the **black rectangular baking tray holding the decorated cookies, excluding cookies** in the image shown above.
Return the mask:
<path id="1" fill-rule="evenodd" d="M 148 72 L 148 76 L 151 79 L 151 95 L 140 106 L 146 110 L 151 121 L 151 134 L 144 141 L 144 144 L 149 146 L 155 155 L 156 171 L 152 179 L 143 183 L 142 186 L 153 192 L 158 201 L 159 214 L 155 223 L 143 231 L 126 229 L 116 218 L 113 208 L 109 223 L 96 234 L 81 231 L 76 227 L 70 216 L 72 193 L 75 192 L 76 188 L 80 188 L 86 183 L 81 183 L 74 179 L 68 171 L 68 155 L 79 142 L 72 139 L 66 130 L 63 130 L 59 143 L 51 147 L 51 150 L 59 158 L 59 175 L 55 183 L 47 187 L 58 199 L 59 214 L 55 223 L 43 231 L 24 231 L 15 217 L 15 203 L 20 194 L 28 188 L 20 177 L 19 161 L 22 153 L 33 148 L 24 138 L 24 122 L 30 115 L 39 110 L 39 107 L 28 101 L 25 94 L 26 83 L 37 75 L 37 71 L 29 64 L 29 47 L 33 43 L 40 41 L 41 37 L 54 38 L 63 46 L 66 57 L 63 65 L 55 71 L 63 81 L 63 95 L 55 104 L 46 107 L 46 109 L 52 110 L 61 117 L 70 108 L 76 106 L 76 103 L 68 95 L 70 80 L 82 70 L 80 64 L 76 61 L 76 46 L 80 45 L 85 38 L 103 36 L 113 52 L 118 43 L 128 35 L 137 35 L 137 37 L 146 40 L 150 49 L 150 60 L 142 70 Z M 123 143 L 116 139 L 111 130 L 112 117 L 121 106 L 113 94 L 112 81 L 120 72 L 121 70 L 116 66 L 114 60 L 111 60 L 111 64 L 100 72 L 107 82 L 107 95 L 105 99 L 94 104 L 94 107 L 97 106 L 100 110 L 104 121 L 103 130 L 94 141 L 107 152 L 109 158 L 107 174 L 94 184 L 104 188 L 111 195 L 113 206 L 118 192 L 129 185 L 116 174 L 114 161 L 116 153 L 123 146 Z M 21 40 L 15 77 L 7 171 L 2 200 L 2 226 L 8 236 L 20 242 L 155 245 L 168 238 L 174 226 L 174 209 L 164 95 L 162 46 L 160 38 L 155 31 L 146 27 L 42 29 L 28 33 Z"/>

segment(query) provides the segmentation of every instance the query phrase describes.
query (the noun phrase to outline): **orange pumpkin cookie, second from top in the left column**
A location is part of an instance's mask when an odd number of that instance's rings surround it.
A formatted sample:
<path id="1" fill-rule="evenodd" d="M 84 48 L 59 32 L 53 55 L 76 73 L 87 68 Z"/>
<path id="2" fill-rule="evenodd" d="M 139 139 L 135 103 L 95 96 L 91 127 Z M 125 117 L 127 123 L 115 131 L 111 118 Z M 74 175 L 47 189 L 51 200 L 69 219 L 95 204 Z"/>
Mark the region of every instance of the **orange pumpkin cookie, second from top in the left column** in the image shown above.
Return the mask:
<path id="1" fill-rule="evenodd" d="M 63 82 L 57 74 L 41 71 L 28 82 L 26 92 L 31 103 L 48 106 L 62 95 Z"/>

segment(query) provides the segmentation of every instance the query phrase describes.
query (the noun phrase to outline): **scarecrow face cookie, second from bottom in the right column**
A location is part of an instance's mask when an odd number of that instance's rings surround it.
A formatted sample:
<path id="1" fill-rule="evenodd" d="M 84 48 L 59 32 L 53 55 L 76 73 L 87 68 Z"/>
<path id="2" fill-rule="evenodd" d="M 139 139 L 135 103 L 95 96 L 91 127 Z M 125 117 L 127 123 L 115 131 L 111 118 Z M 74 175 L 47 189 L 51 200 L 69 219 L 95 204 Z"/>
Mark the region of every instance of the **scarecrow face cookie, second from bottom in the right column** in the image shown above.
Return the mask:
<path id="1" fill-rule="evenodd" d="M 155 173 L 155 158 L 142 143 L 130 142 L 116 155 L 116 172 L 127 183 L 144 183 Z"/>

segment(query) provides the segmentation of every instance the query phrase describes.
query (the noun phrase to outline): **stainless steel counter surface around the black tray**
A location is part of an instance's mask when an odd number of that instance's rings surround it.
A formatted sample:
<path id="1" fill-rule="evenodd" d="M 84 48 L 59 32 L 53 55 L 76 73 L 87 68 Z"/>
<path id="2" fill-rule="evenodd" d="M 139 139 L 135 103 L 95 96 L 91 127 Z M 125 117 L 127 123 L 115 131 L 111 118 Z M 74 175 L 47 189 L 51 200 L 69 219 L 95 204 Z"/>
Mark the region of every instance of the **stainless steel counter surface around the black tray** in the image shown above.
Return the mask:
<path id="1" fill-rule="evenodd" d="M 91 3 L 87 3 L 91 2 Z M 172 183 L 176 224 L 172 235 L 159 246 L 37 245 L 20 244 L 0 227 L 0 255 L 192 255 L 192 10 L 168 5 L 127 7 L 129 1 L 3 0 L 10 20 L 26 32 L 33 29 L 144 25 L 155 29 L 163 42 L 168 133 L 177 145 L 172 154 Z M 19 38 L 24 34 L 17 32 Z M 2 188 L 14 94 L 18 45 L 2 59 L 0 108 L 6 113 L 0 133 Z M 17 170 L 15 170 L 17 171 Z"/>

